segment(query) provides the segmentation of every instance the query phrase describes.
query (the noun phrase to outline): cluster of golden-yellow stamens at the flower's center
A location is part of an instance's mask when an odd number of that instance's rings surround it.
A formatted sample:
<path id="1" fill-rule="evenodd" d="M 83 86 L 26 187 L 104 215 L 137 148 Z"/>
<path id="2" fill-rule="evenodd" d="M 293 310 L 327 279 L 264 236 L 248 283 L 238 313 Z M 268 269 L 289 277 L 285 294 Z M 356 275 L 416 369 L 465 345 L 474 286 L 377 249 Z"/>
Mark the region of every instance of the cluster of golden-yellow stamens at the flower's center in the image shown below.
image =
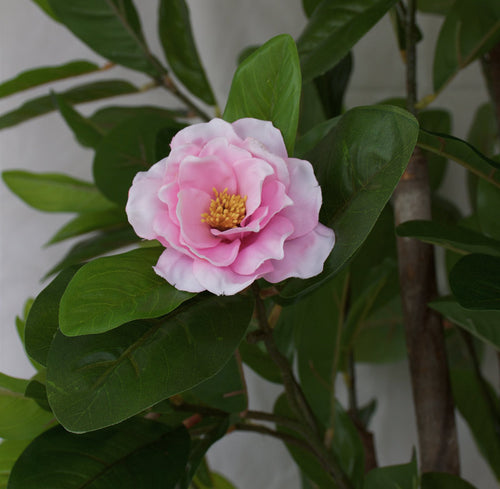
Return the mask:
<path id="1" fill-rule="evenodd" d="M 208 212 L 201 215 L 201 222 L 219 231 L 238 227 L 246 215 L 247 196 L 228 194 L 227 188 L 222 192 L 217 192 L 215 188 L 213 191 L 215 198 L 210 202 Z"/>

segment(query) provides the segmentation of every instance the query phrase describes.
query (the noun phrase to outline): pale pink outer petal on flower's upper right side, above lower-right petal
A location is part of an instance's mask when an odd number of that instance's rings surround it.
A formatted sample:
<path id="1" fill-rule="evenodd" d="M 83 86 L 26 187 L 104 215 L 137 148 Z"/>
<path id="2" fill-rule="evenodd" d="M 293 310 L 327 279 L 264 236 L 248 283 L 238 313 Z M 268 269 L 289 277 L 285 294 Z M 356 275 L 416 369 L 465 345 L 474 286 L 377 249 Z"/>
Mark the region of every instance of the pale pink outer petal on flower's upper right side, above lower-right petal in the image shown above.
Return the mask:
<path id="1" fill-rule="evenodd" d="M 290 186 L 287 193 L 293 205 L 283 209 L 284 216 L 293 223 L 294 232 L 290 238 L 297 238 L 312 231 L 318 224 L 321 207 L 321 188 L 314 175 L 311 163 L 297 158 L 288 159 Z"/>

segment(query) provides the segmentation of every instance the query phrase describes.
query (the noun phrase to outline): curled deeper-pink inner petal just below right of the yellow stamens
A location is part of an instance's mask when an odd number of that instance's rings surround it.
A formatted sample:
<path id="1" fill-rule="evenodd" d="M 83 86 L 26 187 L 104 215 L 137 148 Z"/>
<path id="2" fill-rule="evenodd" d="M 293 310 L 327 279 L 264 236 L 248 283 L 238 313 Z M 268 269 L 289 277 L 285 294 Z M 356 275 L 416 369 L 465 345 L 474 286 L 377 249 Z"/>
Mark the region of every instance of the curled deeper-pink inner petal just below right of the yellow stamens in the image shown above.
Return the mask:
<path id="1" fill-rule="evenodd" d="M 293 233 L 293 226 L 288 219 L 276 216 L 259 233 L 244 241 L 244 247 L 238 254 L 231 268 L 242 275 L 255 273 L 265 261 L 281 260 L 284 256 L 283 245 Z"/>

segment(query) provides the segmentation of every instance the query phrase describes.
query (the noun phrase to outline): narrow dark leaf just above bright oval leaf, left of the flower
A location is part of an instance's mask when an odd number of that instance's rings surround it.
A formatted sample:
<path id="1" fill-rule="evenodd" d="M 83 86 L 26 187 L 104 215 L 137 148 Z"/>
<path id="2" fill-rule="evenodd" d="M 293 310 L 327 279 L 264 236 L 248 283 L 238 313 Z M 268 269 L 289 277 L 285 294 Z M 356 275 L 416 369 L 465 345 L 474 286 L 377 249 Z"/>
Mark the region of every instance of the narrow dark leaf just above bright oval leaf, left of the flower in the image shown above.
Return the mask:
<path id="1" fill-rule="evenodd" d="M 118 250 L 138 241 L 140 239 L 137 237 L 137 234 L 128 225 L 124 228 L 120 227 L 111 231 L 98 233 L 91 238 L 76 243 L 62 260 L 47 272 L 44 278 L 50 277 L 64 268 L 85 262 L 96 256 L 104 255 L 110 251 Z"/>

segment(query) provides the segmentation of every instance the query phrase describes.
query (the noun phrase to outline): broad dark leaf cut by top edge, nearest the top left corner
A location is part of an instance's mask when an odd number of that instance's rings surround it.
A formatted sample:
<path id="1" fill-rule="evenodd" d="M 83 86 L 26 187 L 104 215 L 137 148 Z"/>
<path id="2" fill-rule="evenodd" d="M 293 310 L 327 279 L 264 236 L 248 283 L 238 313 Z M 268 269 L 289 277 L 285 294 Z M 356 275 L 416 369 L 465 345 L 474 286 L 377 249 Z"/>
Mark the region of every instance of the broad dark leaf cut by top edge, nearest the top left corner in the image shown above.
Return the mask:
<path id="1" fill-rule="evenodd" d="M 132 0 L 48 0 L 59 21 L 113 63 L 152 77 L 164 74 L 149 51 Z"/>

